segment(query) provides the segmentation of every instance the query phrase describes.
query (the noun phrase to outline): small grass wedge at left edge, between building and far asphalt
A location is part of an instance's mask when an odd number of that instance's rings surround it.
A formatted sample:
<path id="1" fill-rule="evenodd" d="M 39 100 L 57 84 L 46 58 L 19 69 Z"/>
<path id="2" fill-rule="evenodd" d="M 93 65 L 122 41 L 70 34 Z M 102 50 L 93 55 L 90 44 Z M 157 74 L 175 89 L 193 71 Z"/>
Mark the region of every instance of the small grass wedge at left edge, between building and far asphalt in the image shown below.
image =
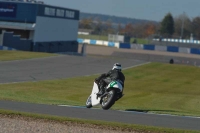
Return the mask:
<path id="1" fill-rule="evenodd" d="M 0 61 L 33 59 L 33 58 L 41 58 L 41 57 L 49 57 L 49 56 L 56 56 L 56 54 L 0 50 Z"/>

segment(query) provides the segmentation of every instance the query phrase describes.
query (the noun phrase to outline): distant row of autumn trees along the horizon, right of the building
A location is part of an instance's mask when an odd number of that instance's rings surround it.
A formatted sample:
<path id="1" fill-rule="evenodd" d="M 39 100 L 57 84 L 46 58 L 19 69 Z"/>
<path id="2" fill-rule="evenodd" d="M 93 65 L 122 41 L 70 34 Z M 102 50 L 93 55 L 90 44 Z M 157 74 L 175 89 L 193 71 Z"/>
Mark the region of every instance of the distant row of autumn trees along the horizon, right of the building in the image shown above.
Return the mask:
<path id="1" fill-rule="evenodd" d="M 164 16 L 161 22 L 113 23 L 111 19 L 101 21 L 99 18 L 83 18 L 79 21 L 80 29 L 90 29 L 92 34 L 120 34 L 135 38 L 165 37 L 189 39 L 191 34 L 200 39 L 200 17 L 189 18 L 185 13 L 173 17 L 171 13 Z"/>

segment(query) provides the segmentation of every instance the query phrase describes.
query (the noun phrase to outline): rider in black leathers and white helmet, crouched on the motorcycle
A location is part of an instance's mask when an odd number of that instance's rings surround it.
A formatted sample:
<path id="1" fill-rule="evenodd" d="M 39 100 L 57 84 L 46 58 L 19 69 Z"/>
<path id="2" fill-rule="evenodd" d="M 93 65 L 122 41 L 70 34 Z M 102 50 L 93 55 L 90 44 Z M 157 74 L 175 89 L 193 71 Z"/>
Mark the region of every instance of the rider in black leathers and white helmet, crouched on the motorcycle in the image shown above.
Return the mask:
<path id="1" fill-rule="evenodd" d="M 104 94 L 106 85 L 108 85 L 113 80 L 118 80 L 124 87 L 125 76 L 121 70 L 121 64 L 115 63 L 112 70 L 110 70 L 108 73 L 101 74 L 101 76 L 95 79 L 95 83 L 97 83 L 99 86 L 99 93 L 97 93 L 98 96 Z"/>

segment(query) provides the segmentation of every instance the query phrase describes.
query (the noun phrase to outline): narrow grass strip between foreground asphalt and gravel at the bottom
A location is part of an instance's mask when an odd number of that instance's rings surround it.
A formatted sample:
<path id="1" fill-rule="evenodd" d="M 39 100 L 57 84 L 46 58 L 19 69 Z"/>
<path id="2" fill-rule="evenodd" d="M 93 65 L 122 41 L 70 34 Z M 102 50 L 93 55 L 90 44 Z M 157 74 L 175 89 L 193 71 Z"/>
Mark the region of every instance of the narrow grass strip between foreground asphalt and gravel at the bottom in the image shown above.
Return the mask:
<path id="1" fill-rule="evenodd" d="M 50 115 L 41 115 L 41 114 L 33 114 L 26 112 L 16 112 L 9 110 L 0 110 L 0 114 L 7 116 L 9 118 L 23 118 L 24 120 L 43 120 L 71 125 L 79 126 L 79 127 L 90 127 L 95 129 L 108 129 L 113 131 L 121 131 L 121 132 L 148 132 L 148 133 L 200 133 L 200 131 L 195 130 L 181 130 L 181 129 L 172 129 L 172 128 L 160 128 L 160 127 L 152 127 L 152 126 L 143 126 L 143 125 L 135 125 L 135 124 L 124 124 L 117 122 L 107 122 L 107 121 L 97 121 L 97 120 L 85 120 L 85 119 L 75 119 L 68 117 L 58 117 L 58 116 L 50 116 Z"/>

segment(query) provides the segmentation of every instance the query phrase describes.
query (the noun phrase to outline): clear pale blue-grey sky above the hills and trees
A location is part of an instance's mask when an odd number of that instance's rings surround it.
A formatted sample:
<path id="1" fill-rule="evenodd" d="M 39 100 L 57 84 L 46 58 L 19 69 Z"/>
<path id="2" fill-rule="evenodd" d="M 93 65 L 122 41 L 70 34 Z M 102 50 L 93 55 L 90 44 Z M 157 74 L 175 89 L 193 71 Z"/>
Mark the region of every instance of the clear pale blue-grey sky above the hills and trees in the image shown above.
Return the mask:
<path id="1" fill-rule="evenodd" d="M 167 13 L 200 16 L 200 0 L 43 0 L 46 4 L 136 19 L 161 21 Z"/>

